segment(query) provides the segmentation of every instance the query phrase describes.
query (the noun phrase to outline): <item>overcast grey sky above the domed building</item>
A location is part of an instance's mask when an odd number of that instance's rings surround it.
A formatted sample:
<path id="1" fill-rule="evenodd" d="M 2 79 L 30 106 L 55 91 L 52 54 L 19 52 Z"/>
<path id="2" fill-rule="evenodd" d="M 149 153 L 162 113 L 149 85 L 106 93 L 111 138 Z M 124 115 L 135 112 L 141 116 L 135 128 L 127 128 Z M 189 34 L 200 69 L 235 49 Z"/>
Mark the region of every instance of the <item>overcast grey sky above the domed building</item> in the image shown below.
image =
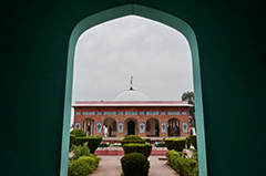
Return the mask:
<path id="1" fill-rule="evenodd" d="M 176 30 L 136 15 L 115 19 L 85 31 L 74 56 L 72 102 L 112 101 L 133 87 L 151 100 L 180 101 L 193 91 L 192 59 Z"/>

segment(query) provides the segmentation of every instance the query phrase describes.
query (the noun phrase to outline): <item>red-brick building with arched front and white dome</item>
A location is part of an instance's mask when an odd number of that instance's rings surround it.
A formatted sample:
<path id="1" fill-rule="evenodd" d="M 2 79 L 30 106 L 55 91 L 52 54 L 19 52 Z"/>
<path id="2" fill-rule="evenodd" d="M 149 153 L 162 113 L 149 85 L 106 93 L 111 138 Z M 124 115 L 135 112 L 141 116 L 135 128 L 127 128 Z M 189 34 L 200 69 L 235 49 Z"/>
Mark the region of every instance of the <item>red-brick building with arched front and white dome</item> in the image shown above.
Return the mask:
<path id="1" fill-rule="evenodd" d="M 190 136 L 186 101 L 151 101 L 132 85 L 114 101 L 75 102 L 74 128 L 88 136 L 187 137 Z"/>

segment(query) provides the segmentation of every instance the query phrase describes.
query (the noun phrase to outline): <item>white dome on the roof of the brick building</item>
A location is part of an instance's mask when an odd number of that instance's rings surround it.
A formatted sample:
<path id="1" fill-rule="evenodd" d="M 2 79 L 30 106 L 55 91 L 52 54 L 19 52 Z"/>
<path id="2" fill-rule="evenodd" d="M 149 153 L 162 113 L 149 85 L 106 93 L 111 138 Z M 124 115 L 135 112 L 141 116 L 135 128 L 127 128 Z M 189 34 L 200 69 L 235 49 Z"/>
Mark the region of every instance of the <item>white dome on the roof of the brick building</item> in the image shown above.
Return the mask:
<path id="1" fill-rule="evenodd" d="M 151 101 L 151 99 L 147 95 L 132 89 L 119 94 L 114 101 Z"/>

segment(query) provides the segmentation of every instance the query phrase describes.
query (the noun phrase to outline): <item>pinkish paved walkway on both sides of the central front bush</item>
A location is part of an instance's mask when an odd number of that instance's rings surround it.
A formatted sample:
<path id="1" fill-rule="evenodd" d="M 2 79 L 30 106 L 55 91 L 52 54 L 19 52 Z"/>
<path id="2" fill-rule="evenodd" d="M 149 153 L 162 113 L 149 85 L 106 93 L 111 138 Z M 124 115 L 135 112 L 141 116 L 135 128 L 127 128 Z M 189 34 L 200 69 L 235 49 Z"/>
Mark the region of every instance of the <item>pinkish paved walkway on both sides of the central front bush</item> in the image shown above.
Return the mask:
<path id="1" fill-rule="evenodd" d="M 101 158 L 98 169 L 91 176 L 120 176 L 122 167 L 120 159 L 123 156 L 99 156 Z M 150 156 L 150 174 L 149 176 L 178 176 L 166 161 L 158 161 L 162 156 Z"/>

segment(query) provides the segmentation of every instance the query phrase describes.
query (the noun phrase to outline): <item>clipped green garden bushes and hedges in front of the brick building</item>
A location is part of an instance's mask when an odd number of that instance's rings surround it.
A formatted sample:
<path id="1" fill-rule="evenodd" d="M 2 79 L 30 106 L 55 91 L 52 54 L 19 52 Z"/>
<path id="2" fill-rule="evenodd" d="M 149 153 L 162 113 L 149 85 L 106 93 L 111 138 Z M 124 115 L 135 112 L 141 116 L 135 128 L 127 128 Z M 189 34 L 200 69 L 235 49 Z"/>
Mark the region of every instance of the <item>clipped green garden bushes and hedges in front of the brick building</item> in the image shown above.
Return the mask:
<path id="1" fill-rule="evenodd" d="M 114 144 L 113 144 L 114 145 Z M 150 169 L 149 157 L 152 145 L 136 135 L 129 135 L 115 144 L 123 148 L 121 158 L 121 176 L 147 176 Z M 86 137 L 81 130 L 73 130 L 70 135 L 70 152 L 68 176 L 88 176 L 100 163 L 94 154 L 98 147 L 109 147 L 110 142 L 102 142 L 102 137 Z M 196 135 L 186 138 L 164 138 L 155 142 L 155 147 L 166 147 L 167 164 L 181 176 L 198 176 Z"/>

